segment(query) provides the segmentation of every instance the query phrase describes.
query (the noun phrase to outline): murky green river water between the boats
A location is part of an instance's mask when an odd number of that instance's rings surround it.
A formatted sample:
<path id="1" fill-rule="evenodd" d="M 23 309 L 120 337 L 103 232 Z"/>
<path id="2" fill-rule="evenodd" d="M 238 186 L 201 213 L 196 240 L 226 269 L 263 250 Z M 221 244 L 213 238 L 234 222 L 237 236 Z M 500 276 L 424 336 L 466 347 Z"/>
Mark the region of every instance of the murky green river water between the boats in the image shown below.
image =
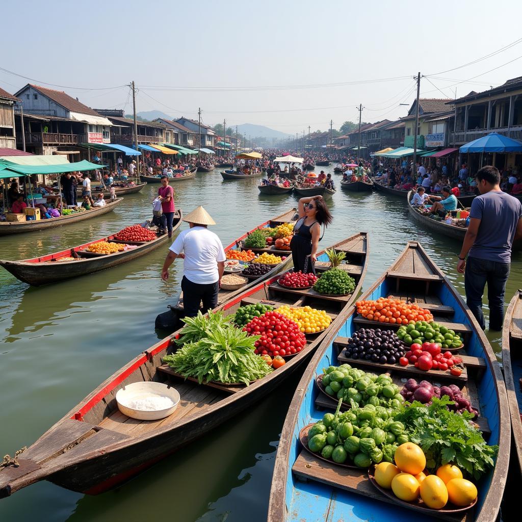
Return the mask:
<path id="1" fill-rule="evenodd" d="M 332 171 L 325 168 L 325 171 Z M 334 176 L 339 184 L 340 176 Z M 203 205 L 217 222 L 223 245 L 258 223 L 296 206 L 293 195 L 258 193 L 259 178 L 224 182 L 219 170 L 175 184 L 176 207 Z M 0 258 L 22 259 L 62 250 L 151 217 L 158 185 L 125 197 L 113 212 L 92 220 L 0 238 Z M 380 193 L 338 191 L 330 200 L 334 223 L 321 246 L 370 232 L 370 266 L 363 290 L 382 274 L 408 240 L 418 240 L 461 294 L 460 244 L 413 221 L 405 200 Z M 187 227 L 184 223 L 182 229 Z M 158 313 L 180 291 L 181 262 L 169 282 L 160 269 L 167 246 L 110 270 L 31 288 L 0 268 L 0 452 L 29 446 L 93 388 L 161 335 Z M 513 255 L 506 301 L 520 286 L 522 254 Z M 488 310 L 485 309 L 485 313 Z M 487 333 L 500 352 L 500 334 Z M 255 408 L 207 434 L 122 487 L 85 496 L 41 482 L 0 501 L 0 519 L 50 522 L 260 522 L 266 520 L 272 467 L 281 426 L 299 375 Z"/>

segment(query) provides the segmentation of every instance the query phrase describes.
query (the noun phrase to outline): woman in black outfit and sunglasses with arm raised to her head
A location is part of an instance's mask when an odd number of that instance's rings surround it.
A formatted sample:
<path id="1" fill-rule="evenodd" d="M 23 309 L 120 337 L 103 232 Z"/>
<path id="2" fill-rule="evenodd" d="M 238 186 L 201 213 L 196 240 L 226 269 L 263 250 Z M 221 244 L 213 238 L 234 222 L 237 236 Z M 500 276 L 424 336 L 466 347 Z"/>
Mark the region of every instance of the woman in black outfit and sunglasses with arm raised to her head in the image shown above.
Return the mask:
<path id="1" fill-rule="evenodd" d="M 315 274 L 317 245 L 321 226 L 327 227 L 332 216 L 325 205 L 323 196 L 302 197 L 299 200 L 299 220 L 294 226 L 290 242 L 294 271 Z"/>

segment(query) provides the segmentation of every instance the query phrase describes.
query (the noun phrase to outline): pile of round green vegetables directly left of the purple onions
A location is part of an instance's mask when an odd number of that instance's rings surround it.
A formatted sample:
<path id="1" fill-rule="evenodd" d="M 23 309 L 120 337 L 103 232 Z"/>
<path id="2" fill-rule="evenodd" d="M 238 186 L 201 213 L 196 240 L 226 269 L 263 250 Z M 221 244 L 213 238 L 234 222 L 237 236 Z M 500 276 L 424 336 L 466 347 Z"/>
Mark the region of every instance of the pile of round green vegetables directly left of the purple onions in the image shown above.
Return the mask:
<path id="1" fill-rule="evenodd" d="M 400 388 L 387 373 L 366 373 L 349 364 L 329 366 L 323 372 L 325 392 L 331 397 L 342 399 L 346 404 L 353 400 L 358 406 L 371 404 L 399 410 L 404 402 L 404 397 L 399 393 Z"/>

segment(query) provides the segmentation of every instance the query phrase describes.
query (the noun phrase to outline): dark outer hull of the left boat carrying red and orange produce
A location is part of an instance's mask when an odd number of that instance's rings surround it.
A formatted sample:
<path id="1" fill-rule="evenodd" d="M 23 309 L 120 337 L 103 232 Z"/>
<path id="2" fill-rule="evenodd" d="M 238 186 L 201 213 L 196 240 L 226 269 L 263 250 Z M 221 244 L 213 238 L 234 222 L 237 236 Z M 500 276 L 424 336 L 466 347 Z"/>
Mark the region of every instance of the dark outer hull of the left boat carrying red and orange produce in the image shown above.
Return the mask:
<path id="1" fill-rule="evenodd" d="M 181 210 L 176 212 L 174 216 L 173 232 L 175 232 L 181 225 L 183 213 Z M 100 240 L 94 241 L 94 243 Z M 6 261 L 0 260 L 0 266 L 3 266 L 7 271 L 13 274 L 17 279 L 32 286 L 42 286 L 43 284 L 55 283 L 72 279 L 87 274 L 93 274 L 107 268 L 127 263 L 138 257 L 144 256 L 156 248 L 159 248 L 169 239 L 168 234 L 163 234 L 153 241 L 149 241 L 143 245 L 138 245 L 132 250 L 124 252 L 117 252 L 100 257 L 84 258 L 74 261 L 56 262 L 56 263 L 30 263 L 27 261 Z M 84 245 L 75 248 L 83 248 Z M 67 255 L 66 251 L 61 253 Z"/>

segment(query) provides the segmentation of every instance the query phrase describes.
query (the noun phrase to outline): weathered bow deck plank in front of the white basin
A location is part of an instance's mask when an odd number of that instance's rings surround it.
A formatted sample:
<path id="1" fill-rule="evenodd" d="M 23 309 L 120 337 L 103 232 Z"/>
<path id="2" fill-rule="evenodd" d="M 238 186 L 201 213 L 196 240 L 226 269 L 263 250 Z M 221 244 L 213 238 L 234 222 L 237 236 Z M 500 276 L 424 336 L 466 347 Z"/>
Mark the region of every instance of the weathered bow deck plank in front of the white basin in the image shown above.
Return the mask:
<path id="1" fill-rule="evenodd" d="M 61 452 L 69 444 L 93 435 L 94 428 L 96 428 L 94 424 L 67 419 L 60 425 L 55 426 L 49 434 L 40 438 L 30 448 L 26 449 L 22 454 L 23 458 L 40 462 L 50 455 Z"/>

